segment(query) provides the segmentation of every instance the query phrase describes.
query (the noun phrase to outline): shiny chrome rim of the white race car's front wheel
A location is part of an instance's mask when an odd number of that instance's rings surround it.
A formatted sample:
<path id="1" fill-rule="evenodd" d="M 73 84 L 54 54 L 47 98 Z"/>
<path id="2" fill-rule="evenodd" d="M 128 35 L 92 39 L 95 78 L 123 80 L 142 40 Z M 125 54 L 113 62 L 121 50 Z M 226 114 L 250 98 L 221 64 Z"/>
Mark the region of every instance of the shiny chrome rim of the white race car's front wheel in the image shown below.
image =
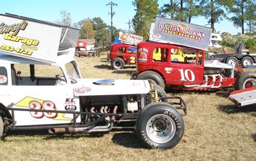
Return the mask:
<path id="1" fill-rule="evenodd" d="M 165 143 L 173 139 L 176 125 L 170 116 L 157 114 L 148 120 L 146 132 L 151 141 Z"/>

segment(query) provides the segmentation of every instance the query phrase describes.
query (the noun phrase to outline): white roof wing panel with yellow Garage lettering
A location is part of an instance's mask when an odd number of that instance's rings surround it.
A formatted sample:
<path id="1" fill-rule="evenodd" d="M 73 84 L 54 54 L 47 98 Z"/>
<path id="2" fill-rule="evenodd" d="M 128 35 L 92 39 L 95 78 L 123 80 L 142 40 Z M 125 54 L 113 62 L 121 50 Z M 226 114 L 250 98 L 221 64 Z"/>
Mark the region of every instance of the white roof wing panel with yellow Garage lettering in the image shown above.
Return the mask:
<path id="1" fill-rule="evenodd" d="M 76 30 L 41 20 L 0 14 L 0 52 L 54 63 L 59 49 L 76 47 Z"/>

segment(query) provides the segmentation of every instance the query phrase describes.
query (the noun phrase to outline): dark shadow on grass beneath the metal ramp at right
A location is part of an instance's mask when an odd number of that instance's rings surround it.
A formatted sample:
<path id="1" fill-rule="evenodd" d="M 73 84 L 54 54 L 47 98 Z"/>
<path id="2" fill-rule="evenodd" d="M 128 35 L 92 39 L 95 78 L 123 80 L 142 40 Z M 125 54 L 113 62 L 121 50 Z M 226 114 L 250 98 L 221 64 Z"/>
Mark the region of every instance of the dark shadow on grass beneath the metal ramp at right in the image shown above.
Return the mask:
<path id="1" fill-rule="evenodd" d="M 255 104 L 245 105 L 244 107 L 237 107 L 236 105 L 220 105 L 218 109 L 227 114 L 235 114 L 239 112 L 244 112 L 244 113 L 252 112 L 252 116 L 256 117 L 256 114 L 253 113 L 253 112 L 256 112 Z"/>

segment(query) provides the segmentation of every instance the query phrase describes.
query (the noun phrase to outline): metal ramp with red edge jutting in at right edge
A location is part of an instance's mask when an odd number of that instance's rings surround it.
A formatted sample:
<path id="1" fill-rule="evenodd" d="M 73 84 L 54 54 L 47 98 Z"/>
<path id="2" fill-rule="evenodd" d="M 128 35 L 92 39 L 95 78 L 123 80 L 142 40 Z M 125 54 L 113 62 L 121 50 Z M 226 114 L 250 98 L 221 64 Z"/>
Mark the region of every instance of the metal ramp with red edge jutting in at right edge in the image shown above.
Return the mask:
<path id="1" fill-rule="evenodd" d="M 228 98 L 238 107 L 256 104 L 256 86 L 233 91 Z"/>

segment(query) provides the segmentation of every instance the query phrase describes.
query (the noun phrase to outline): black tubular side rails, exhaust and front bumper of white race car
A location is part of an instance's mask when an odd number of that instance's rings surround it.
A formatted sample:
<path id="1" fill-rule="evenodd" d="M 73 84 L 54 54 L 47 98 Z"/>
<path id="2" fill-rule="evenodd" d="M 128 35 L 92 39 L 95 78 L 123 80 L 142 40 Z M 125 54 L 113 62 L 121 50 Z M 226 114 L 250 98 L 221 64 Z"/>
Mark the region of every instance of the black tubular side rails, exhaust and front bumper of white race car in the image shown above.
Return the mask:
<path id="1" fill-rule="evenodd" d="M 179 100 L 175 102 L 168 102 L 168 100 Z M 187 105 L 182 100 L 180 96 L 167 96 L 162 97 L 162 101 L 168 102 L 170 105 L 174 105 L 176 109 L 181 109 L 182 116 L 187 115 Z M 58 134 L 58 133 L 75 133 L 75 132 L 109 132 L 113 128 L 125 128 L 125 127 L 114 127 L 114 123 L 121 123 L 121 122 L 128 122 L 128 121 L 136 121 L 137 116 L 140 112 L 136 112 L 133 114 L 130 113 L 123 113 L 117 114 L 116 109 L 113 113 L 104 112 L 77 112 L 77 111 L 55 111 L 55 110 L 40 110 L 40 109 L 19 109 L 19 108 L 12 108 L 13 104 L 8 105 L 5 107 L 3 104 L 0 103 L 0 114 L 4 119 L 4 134 L 8 130 L 44 130 L 49 129 L 49 134 Z M 10 114 L 10 112 L 11 114 Z M 70 121 L 69 124 L 65 125 L 33 125 L 33 126 L 21 126 L 16 127 L 15 121 L 15 111 L 26 111 L 26 112 L 54 112 L 54 113 L 61 113 L 61 114 L 73 114 L 73 119 Z M 97 116 L 97 119 L 92 120 L 90 122 L 81 121 L 81 123 L 77 123 L 76 119 L 78 116 Z M 118 118 L 118 119 L 116 119 Z M 105 121 L 106 125 L 97 125 Z M 134 128 L 134 127 L 126 127 L 126 128 Z M 5 136 L 5 135 L 4 135 Z"/>

